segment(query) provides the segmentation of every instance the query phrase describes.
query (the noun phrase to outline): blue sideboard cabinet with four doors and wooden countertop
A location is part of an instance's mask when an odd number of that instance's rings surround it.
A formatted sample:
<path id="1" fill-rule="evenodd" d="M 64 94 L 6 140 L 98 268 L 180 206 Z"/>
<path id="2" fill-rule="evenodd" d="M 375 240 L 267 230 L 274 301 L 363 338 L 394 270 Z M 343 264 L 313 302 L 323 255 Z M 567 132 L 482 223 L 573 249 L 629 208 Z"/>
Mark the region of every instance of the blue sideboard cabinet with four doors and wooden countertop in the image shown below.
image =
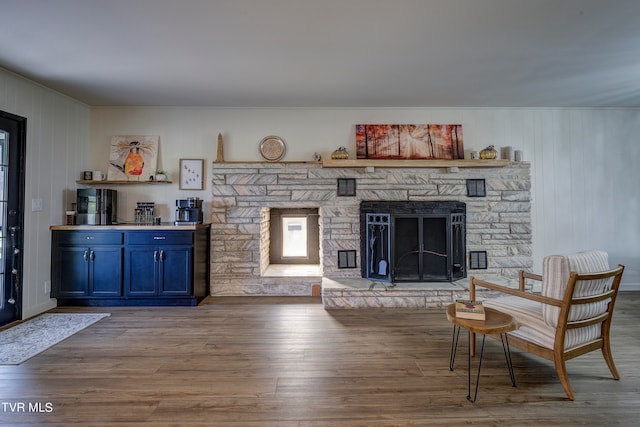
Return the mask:
<path id="1" fill-rule="evenodd" d="M 209 226 L 60 228 L 51 246 L 58 305 L 197 305 L 208 294 Z"/>

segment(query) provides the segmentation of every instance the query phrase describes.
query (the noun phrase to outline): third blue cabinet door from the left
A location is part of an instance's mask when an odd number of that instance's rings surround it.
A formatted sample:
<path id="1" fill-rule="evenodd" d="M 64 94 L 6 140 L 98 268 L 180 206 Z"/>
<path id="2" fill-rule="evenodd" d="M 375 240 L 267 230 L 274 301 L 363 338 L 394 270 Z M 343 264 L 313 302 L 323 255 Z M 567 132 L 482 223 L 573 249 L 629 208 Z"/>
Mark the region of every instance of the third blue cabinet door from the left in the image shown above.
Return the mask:
<path id="1" fill-rule="evenodd" d="M 132 297 L 156 296 L 158 294 L 158 248 L 137 246 L 125 251 L 126 294 Z"/>

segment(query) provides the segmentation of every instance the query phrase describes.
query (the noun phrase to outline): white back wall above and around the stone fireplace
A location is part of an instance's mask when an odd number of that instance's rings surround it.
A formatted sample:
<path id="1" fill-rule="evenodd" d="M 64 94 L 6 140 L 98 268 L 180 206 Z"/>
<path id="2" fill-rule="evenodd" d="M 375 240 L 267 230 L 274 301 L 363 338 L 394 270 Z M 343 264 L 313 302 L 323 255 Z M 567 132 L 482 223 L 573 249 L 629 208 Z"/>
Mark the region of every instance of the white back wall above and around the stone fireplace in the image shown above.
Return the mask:
<path id="1" fill-rule="evenodd" d="M 119 187 L 119 214 L 130 221 L 136 201 L 151 200 L 173 220 L 175 199 L 211 200 L 209 182 L 204 191 L 178 190 L 178 159 L 210 165 L 218 133 L 227 161 L 261 160 L 258 143 L 268 135 L 285 140 L 286 161 L 314 152 L 326 158 L 341 145 L 355 157 L 356 123 L 462 123 L 467 151 L 524 150 L 532 162 L 535 268 L 546 254 L 601 248 L 612 264 L 626 264 L 623 289 L 640 289 L 638 109 L 92 108 L 91 160 L 75 173 L 106 169 L 112 135 L 160 135 L 159 167 L 174 184 Z"/>

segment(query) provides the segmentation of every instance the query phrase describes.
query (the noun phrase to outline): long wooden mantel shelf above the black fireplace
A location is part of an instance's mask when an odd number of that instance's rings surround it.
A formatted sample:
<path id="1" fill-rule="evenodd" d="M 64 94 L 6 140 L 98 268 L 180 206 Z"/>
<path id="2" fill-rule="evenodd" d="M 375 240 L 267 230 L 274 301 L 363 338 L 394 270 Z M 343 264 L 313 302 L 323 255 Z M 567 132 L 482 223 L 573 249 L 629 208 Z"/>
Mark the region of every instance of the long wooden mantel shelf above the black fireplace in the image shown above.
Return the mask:
<path id="1" fill-rule="evenodd" d="M 322 160 L 323 168 L 500 168 L 509 160 Z"/>

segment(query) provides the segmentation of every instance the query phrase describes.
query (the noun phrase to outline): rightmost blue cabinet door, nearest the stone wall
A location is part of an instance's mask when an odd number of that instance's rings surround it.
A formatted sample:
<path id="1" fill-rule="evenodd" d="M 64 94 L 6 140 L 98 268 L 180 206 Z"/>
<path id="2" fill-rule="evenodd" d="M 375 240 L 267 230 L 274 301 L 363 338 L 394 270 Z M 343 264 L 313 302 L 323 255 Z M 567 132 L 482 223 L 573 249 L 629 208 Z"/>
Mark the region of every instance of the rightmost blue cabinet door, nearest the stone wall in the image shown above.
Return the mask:
<path id="1" fill-rule="evenodd" d="M 160 254 L 160 295 L 190 295 L 191 246 L 164 246 Z"/>

